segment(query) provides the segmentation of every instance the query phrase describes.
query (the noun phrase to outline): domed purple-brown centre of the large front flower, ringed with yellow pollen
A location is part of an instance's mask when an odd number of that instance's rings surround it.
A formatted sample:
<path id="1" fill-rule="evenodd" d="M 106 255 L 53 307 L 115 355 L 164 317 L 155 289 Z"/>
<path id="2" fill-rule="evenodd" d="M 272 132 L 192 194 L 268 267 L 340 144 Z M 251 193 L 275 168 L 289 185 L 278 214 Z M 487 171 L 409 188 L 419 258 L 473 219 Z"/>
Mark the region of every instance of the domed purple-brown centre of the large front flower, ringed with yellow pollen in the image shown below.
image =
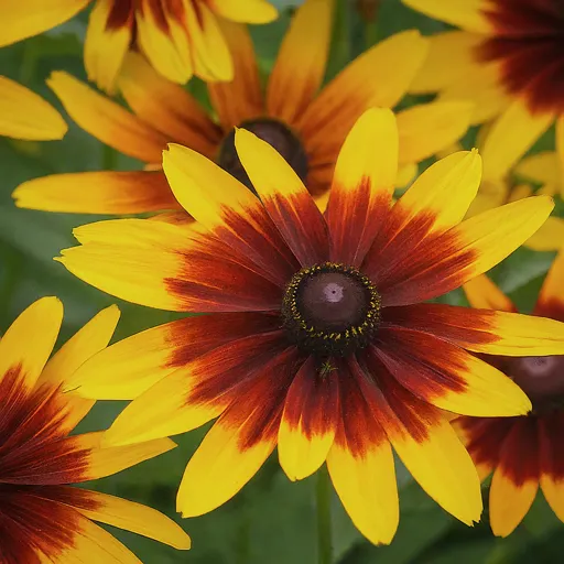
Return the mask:
<path id="1" fill-rule="evenodd" d="M 319 357 L 366 347 L 380 322 L 380 295 L 354 267 L 325 262 L 302 269 L 286 286 L 284 327 L 293 343 Z"/>

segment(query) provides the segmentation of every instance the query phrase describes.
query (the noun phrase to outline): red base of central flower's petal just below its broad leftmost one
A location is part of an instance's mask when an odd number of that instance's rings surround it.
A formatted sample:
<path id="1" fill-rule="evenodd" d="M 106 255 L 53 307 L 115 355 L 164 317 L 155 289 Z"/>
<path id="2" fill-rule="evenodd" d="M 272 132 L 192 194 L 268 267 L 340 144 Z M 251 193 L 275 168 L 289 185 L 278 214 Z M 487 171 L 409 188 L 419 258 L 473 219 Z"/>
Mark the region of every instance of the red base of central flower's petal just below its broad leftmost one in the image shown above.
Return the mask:
<path id="1" fill-rule="evenodd" d="M 166 340 L 172 354 L 167 366 L 180 368 L 210 350 L 262 333 L 279 330 L 282 321 L 276 314 L 218 313 L 185 317 L 167 325 Z"/>

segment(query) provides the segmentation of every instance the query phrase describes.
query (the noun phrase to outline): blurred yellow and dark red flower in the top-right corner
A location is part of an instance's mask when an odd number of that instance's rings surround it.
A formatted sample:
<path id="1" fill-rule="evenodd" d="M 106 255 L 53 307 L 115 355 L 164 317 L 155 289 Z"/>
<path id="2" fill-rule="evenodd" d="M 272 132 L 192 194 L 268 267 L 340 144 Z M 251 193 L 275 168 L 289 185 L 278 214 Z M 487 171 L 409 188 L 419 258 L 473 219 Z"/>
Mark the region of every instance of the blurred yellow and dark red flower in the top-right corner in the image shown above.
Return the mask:
<path id="1" fill-rule="evenodd" d="M 412 91 L 471 100 L 475 122 L 496 118 L 484 147 L 485 170 L 501 176 L 555 121 L 564 162 L 562 1 L 403 1 L 460 28 L 432 37 Z"/>

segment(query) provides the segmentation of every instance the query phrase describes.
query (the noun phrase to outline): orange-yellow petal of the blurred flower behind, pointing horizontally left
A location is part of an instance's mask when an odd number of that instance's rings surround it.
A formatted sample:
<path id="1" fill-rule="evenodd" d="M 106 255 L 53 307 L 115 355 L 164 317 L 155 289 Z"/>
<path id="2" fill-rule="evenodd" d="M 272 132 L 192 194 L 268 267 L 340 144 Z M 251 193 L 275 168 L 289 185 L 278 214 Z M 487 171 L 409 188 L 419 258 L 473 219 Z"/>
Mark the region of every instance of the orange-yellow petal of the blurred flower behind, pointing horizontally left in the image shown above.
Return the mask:
<path id="1" fill-rule="evenodd" d="M 18 207 L 73 214 L 182 209 L 160 171 L 52 174 L 20 184 L 12 196 Z"/>

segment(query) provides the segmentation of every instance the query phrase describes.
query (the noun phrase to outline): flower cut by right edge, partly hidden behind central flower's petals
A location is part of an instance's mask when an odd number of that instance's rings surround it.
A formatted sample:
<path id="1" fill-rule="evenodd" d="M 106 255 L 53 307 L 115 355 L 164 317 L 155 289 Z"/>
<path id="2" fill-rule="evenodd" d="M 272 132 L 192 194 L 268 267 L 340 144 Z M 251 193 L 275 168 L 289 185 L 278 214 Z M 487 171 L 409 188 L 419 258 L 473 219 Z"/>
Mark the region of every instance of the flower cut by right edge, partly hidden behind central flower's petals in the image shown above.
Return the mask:
<path id="1" fill-rule="evenodd" d="M 486 276 L 465 286 L 470 304 L 513 312 L 516 306 Z M 534 315 L 564 321 L 564 251 L 554 261 L 539 294 Z M 503 420 L 460 417 L 455 425 L 485 479 L 491 473 L 489 514 L 495 534 L 507 536 L 524 518 L 540 489 L 564 521 L 564 356 L 488 358 L 532 401 L 530 414 Z"/>

